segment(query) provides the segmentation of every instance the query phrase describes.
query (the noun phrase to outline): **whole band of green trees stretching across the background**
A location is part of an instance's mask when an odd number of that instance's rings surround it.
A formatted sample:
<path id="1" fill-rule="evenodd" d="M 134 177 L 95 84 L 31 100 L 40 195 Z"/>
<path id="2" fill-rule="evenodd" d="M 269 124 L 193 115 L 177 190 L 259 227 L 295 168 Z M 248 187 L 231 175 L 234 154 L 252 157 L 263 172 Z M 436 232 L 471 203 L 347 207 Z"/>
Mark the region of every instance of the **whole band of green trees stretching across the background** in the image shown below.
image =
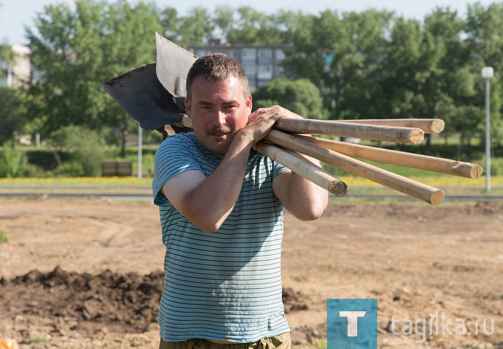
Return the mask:
<path id="1" fill-rule="evenodd" d="M 266 14 L 219 6 L 181 15 L 141 0 L 54 4 L 28 30 L 41 78 L 22 99 L 14 92 L 0 97 L 0 141 L 15 129 L 33 131 L 35 119 L 43 137 L 69 125 L 124 131 L 116 139 L 136 132 L 136 123 L 102 83 L 154 62 L 159 32 L 183 47 L 215 37 L 231 45 L 288 46 L 283 66 L 292 81 L 275 81 L 254 93 L 255 107 L 280 104 L 304 117 L 336 120 L 441 118 L 444 134 L 461 134 L 465 142 L 483 137 L 480 68 L 492 66 L 491 139 L 503 144 L 502 2 L 468 5 L 464 18 L 437 8 L 423 21 L 375 10 Z"/>

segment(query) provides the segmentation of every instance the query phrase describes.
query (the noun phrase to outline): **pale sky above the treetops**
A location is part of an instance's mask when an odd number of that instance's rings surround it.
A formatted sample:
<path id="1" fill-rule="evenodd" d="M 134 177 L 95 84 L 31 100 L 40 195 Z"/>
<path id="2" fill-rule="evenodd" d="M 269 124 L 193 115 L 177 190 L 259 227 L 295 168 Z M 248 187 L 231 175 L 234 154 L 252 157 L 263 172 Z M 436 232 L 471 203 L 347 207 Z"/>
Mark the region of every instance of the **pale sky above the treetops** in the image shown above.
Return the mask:
<path id="1" fill-rule="evenodd" d="M 500 0 L 501 1 L 501 0 Z M 484 7 L 495 0 L 479 0 L 478 3 Z M 28 44 L 25 38 L 25 26 L 32 27 L 37 13 L 44 11 L 45 5 L 57 3 L 73 4 L 74 0 L 0 0 L 0 42 L 7 41 L 8 44 Z M 114 1 L 111 1 L 112 3 Z M 398 16 L 405 18 L 423 20 L 423 18 L 433 12 L 437 7 L 449 7 L 458 11 L 458 15 L 463 17 L 466 14 L 468 4 L 475 4 L 477 1 L 464 0 L 233 0 L 232 2 L 223 0 L 146 0 L 154 2 L 159 8 L 173 7 L 179 14 L 185 15 L 191 9 L 204 7 L 210 11 L 218 5 L 230 5 L 234 8 L 240 6 L 250 6 L 257 11 L 273 14 L 279 10 L 302 11 L 309 14 L 319 14 L 324 10 L 337 10 L 338 12 L 356 11 L 362 12 L 368 9 L 394 11 Z M 137 3 L 136 0 L 130 1 Z"/>

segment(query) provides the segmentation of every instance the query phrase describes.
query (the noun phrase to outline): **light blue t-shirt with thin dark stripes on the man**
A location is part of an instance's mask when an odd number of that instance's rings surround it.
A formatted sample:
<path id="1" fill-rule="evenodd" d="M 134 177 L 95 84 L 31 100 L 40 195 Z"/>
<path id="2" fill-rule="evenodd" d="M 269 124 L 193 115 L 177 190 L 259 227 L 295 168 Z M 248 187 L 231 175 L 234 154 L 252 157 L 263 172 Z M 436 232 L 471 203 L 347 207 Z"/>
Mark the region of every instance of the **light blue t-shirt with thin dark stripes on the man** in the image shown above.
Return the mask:
<path id="1" fill-rule="evenodd" d="M 283 207 L 272 190 L 288 168 L 253 152 L 234 209 L 212 233 L 190 223 L 160 192 L 183 171 L 209 176 L 221 159 L 194 133 L 168 137 L 155 155 L 152 189 L 166 246 L 159 307 L 165 341 L 246 343 L 290 331 L 281 299 Z"/>

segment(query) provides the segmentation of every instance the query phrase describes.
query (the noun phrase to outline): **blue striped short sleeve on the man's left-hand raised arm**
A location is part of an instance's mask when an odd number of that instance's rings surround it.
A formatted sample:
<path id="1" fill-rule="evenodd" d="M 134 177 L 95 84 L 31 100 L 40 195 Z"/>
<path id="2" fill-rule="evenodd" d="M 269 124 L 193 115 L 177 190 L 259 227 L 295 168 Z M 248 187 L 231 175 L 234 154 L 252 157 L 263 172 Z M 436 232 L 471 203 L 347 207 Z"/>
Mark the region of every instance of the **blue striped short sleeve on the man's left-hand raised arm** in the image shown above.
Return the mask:
<path id="1" fill-rule="evenodd" d="M 167 199 L 160 192 L 162 186 L 180 173 L 192 169 L 201 170 L 201 166 L 190 140 L 180 134 L 167 137 L 155 152 L 152 180 L 154 203 L 164 205 Z"/>

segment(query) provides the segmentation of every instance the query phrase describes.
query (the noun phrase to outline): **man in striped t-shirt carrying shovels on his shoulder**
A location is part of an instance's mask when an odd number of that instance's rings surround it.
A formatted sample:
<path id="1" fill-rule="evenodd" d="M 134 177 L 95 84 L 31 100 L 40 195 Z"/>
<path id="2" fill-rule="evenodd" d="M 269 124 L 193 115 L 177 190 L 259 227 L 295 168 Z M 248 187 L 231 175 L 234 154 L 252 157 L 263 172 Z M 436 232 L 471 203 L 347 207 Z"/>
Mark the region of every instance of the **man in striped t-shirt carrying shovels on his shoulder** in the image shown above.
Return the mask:
<path id="1" fill-rule="evenodd" d="M 166 245 L 159 348 L 288 348 L 282 208 L 316 219 L 328 195 L 253 146 L 279 118 L 299 116 L 278 106 L 251 114 L 244 70 L 224 54 L 191 67 L 185 107 L 194 132 L 168 137 L 155 155 Z"/>

